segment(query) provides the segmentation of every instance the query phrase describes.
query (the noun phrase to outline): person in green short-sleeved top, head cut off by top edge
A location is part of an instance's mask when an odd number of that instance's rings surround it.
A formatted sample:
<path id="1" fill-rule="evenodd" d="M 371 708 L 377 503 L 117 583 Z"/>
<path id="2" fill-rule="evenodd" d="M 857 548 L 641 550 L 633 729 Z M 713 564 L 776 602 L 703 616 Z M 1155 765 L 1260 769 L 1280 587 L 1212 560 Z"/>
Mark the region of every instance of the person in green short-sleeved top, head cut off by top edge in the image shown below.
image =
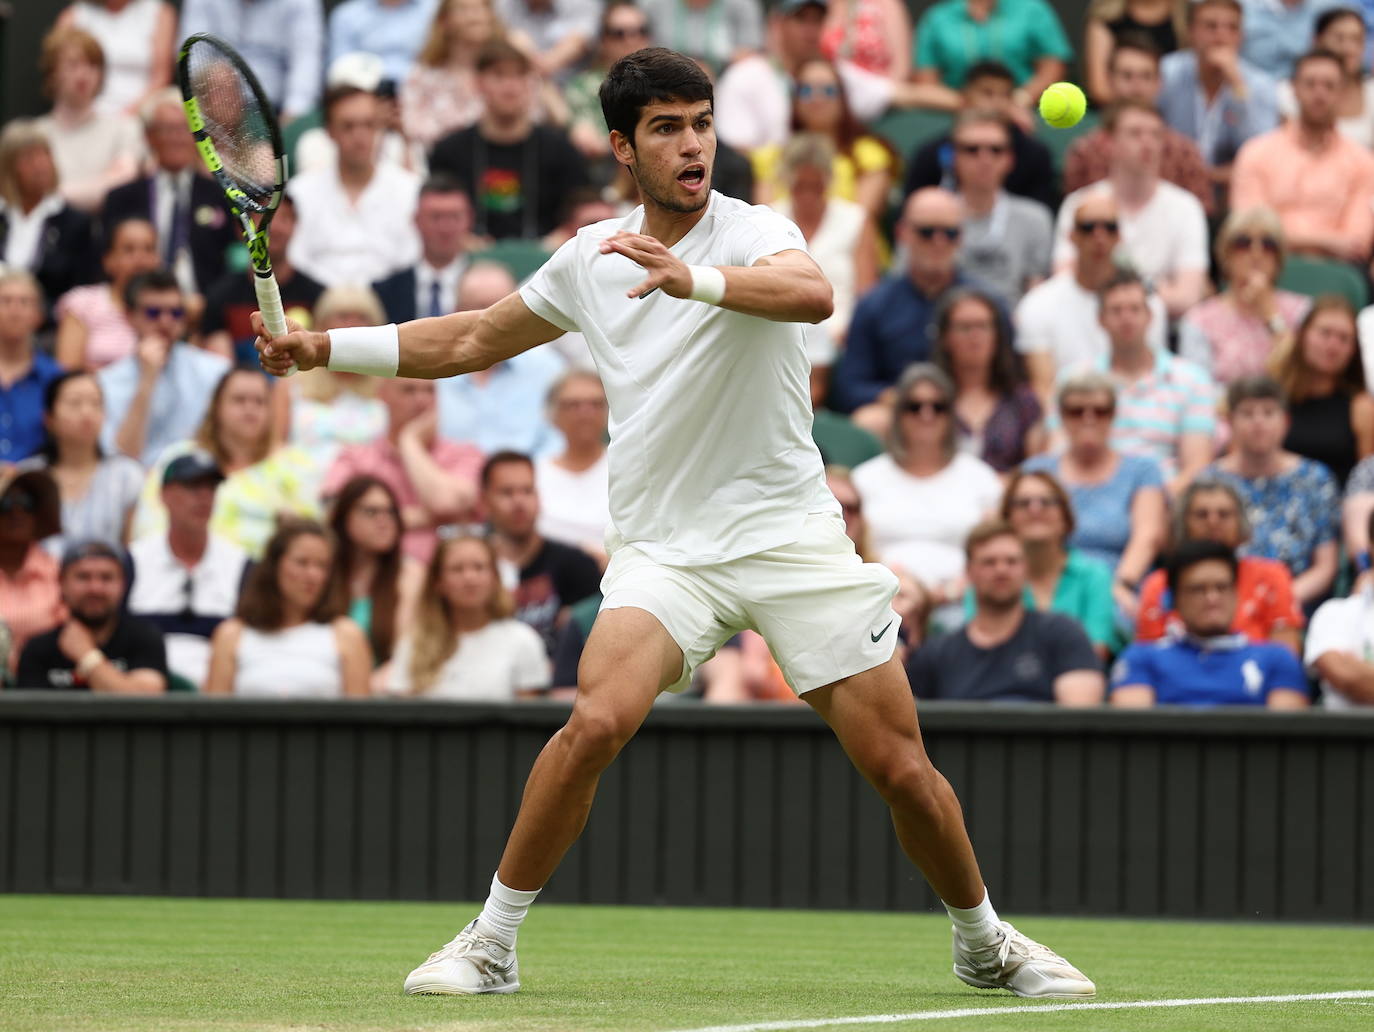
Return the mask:
<path id="1" fill-rule="evenodd" d="M 938 0 L 916 23 L 916 82 L 959 89 L 969 69 L 989 58 L 1011 69 L 1015 100 L 1029 110 L 1065 77 L 1073 47 L 1046 0 Z"/>

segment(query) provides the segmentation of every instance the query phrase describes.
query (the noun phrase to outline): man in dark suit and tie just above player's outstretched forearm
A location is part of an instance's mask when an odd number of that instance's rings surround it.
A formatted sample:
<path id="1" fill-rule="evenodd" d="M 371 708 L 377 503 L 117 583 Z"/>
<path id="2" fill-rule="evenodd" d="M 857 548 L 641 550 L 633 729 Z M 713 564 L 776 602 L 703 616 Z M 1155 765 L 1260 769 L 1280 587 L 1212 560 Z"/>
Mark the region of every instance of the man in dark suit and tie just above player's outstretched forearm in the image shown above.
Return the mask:
<path id="1" fill-rule="evenodd" d="M 374 283 L 386 317 L 396 323 L 458 311 L 458 280 L 467 268 L 467 236 L 473 203 L 463 184 L 442 173 L 420 187 L 415 205 L 420 260 Z"/>

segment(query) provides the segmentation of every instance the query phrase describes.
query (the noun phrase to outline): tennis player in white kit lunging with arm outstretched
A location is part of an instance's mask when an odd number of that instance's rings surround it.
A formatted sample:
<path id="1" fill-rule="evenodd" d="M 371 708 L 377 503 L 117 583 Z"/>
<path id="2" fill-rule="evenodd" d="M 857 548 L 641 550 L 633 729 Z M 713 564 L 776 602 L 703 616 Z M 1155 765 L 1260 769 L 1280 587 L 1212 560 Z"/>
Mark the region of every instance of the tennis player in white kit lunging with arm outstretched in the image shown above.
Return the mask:
<path id="1" fill-rule="evenodd" d="M 581 834 L 602 771 L 658 693 L 684 688 L 754 628 L 890 807 L 954 921 L 955 974 L 1020 996 L 1092 996 L 993 911 L 893 655 L 896 579 L 859 559 L 826 488 L 800 323 L 830 315 L 830 284 L 787 218 L 712 192 L 712 87 L 695 63 L 642 49 L 610 70 L 600 102 L 643 206 L 581 229 L 517 293 L 400 327 L 269 338 L 254 322 L 276 375 L 294 361 L 455 377 L 577 330 L 610 400 L 610 565 L 572 716 L 534 763 L 481 914 L 405 991 L 519 988 L 517 932 Z"/>

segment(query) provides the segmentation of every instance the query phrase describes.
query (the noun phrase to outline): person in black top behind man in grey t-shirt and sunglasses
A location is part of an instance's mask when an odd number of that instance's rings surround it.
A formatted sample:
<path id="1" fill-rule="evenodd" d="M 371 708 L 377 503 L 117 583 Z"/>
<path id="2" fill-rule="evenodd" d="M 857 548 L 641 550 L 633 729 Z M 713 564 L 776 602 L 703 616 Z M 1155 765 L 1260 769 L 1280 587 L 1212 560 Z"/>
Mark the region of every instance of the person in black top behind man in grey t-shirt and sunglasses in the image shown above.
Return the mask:
<path id="1" fill-rule="evenodd" d="M 1011 99 L 1015 78 L 1011 71 L 996 60 L 980 60 L 969 69 L 960 96 L 963 110 L 1002 111 L 1011 118 L 1011 172 L 1007 173 L 1003 188 L 1017 197 L 1039 201 L 1051 212 L 1058 207 L 1059 197 L 1055 184 L 1059 177 L 1054 170 L 1050 148 L 1026 132 L 1018 121 L 1021 109 Z M 944 133 L 926 140 L 907 161 L 907 183 L 903 195 L 911 197 L 922 187 L 944 186 L 954 190 L 954 137 Z"/>

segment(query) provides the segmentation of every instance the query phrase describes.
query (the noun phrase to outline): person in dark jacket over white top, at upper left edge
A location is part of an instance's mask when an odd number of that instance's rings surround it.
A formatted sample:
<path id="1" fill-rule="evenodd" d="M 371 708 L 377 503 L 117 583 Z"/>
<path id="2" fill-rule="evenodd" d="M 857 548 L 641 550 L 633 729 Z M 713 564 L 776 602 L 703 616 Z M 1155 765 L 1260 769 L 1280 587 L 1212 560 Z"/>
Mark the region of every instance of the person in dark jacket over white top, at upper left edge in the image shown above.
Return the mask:
<path id="1" fill-rule="evenodd" d="M 0 135 L 0 265 L 27 269 L 43 287 L 45 312 L 74 286 L 99 279 L 91 216 L 58 194 L 48 137 L 19 120 Z M 8 176 L 7 176 L 8 173 Z"/>

